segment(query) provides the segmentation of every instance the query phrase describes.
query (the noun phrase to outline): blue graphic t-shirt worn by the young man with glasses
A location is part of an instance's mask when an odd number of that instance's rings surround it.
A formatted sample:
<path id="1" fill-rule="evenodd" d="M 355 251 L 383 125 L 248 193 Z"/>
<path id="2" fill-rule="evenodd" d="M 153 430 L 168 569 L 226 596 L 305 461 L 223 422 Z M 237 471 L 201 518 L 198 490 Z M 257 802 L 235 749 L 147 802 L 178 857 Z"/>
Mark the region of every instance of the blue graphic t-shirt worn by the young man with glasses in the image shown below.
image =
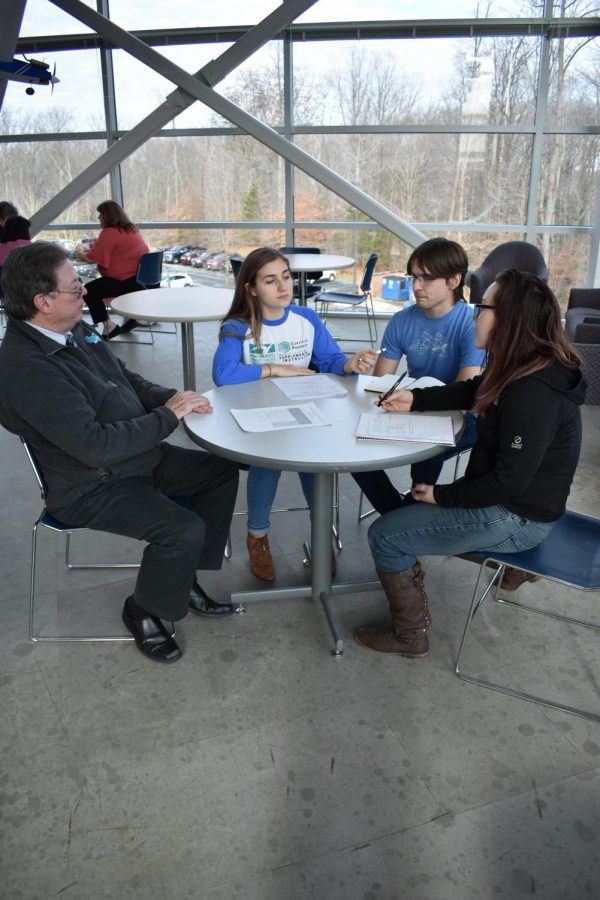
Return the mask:
<path id="1" fill-rule="evenodd" d="M 390 320 L 381 346 L 385 359 L 406 355 L 411 378 L 430 375 L 445 384 L 456 380 L 465 366 L 482 366 L 485 351 L 475 346 L 473 311 L 466 303 L 455 303 L 439 319 L 425 315 L 417 306 L 397 312 Z"/>

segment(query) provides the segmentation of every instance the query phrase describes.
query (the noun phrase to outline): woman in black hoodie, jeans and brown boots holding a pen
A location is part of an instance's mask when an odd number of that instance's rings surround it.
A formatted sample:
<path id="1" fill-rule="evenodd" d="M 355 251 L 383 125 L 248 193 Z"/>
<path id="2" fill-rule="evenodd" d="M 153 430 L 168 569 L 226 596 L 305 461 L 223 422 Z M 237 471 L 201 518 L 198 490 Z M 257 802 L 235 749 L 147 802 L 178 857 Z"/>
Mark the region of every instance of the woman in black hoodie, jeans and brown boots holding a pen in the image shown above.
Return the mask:
<path id="1" fill-rule="evenodd" d="M 419 501 L 382 516 L 369 545 L 390 604 L 386 628 L 359 628 L 359 644 L 381 653 L 427 656 L 431 616 L 421 554 L 535 547 L 562 516 L 581 447 L 585 381 L 564 336 L 550 288 L 514 269 L 477 304 L 482 375 L 445 387 L 397 391 L 388 412 L 470 409 L 478 437 L 463 478 L 416 484 Z"/>

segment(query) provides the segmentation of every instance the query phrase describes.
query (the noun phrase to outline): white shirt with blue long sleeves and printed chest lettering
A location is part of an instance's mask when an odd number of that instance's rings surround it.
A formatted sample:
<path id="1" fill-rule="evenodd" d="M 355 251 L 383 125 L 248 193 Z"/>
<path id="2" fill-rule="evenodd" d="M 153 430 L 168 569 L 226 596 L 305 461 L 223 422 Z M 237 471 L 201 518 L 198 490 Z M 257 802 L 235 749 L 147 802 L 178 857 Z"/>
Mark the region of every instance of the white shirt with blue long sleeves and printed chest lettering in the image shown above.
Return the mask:
<path id="1" fill-rule="evenodd" d="M 281 319 L 263 322 L 260 346 L 248 323 L 229 319 L 213 359 L 216 385 L 257 381 L 264 365 L 293 365 L 345 375 L 346 355 L 318 315 L 305 306 L 288 306 Z"/>

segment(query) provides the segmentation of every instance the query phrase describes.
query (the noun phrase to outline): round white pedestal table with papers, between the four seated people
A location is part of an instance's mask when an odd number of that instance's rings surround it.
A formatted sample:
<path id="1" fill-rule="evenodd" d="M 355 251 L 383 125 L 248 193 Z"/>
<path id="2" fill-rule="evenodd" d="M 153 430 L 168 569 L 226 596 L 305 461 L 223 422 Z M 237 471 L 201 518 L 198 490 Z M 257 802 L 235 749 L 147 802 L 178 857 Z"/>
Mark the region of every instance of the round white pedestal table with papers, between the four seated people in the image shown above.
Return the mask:
<path id="1" fill-rule="evenodd" d="M 297 406 L 276 387 L 277 379 L 263 378 L 245 384 L 232 384 L 206 392 L 213 406 L 209 415 L 192 413 L 185 417 L 185 428 L 196 443 L 220 456 L 250 465 L 313 473 L 311 545 L 311 586 L 242 591 L 232 594 L 232 602 L 247 600 L 280 600 L 312 597 L 325 610 L 334 638 L 333 653 L 340 656 L 343 641 L 330 603 L 332 594 L 376 590 L 379 582 L 331 583 L 330 536 L 333 518 L 333 474 L 360 470 L 411 465 L 443 452 L 436 444 L 397 441 L 361 441 L 356 428 L 361 412 L 373 412 L 377 395 L 366 392 L 370 376 L 343 378 L 330 375 L 348 391 L 345 397 L 313 401 L 331 425 L 292 428 L 281 431 L 249 433 L 242 431 L 231 409 L 254 409 L 268 406 Z M 413 415 L 419 415 L 414 413 Z M 463 416 L 452 413 L 454 433 L 462 432 Z"/>

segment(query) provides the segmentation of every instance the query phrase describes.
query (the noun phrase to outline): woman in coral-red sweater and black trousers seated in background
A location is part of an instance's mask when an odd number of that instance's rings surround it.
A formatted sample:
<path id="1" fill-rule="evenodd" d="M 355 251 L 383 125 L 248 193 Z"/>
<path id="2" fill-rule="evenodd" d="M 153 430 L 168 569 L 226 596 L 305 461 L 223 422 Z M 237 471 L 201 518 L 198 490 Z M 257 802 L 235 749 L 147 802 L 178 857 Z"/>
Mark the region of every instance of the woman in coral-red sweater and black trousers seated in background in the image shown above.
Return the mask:
<path id="1" fill-rule="evenodd" d="M 108 317 L 104 301 L 142 290 L 136 276 L 140 259 L 148 253 L 148 245 L 114 200 L 105 200 L 97 209 L 102 231 L 87 253 L 77 249 L 77 258 L 96 263 L 100 270 L 102 277 L 86 284 L 85 300 L 94 324 L 102 322 L 102 336 L 110 340 L 138 324 L 135 319 L 128 319 L 123 325 L 115 325 Z"/>

